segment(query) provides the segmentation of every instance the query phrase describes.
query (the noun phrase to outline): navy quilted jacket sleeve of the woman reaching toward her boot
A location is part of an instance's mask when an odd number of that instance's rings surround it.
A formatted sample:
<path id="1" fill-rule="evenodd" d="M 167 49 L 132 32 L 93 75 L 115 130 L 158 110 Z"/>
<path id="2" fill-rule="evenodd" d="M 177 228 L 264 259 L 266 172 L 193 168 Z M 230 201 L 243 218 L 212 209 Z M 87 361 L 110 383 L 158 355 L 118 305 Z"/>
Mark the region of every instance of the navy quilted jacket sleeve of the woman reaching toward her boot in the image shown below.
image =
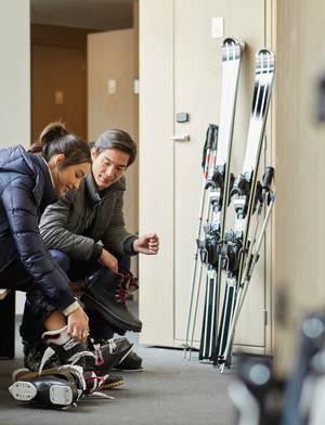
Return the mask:
<path id="1" fill-rule="evenodd" d="M 75 300 L 67 275 L 47 250 L 38 228 L 38 214 L 28 178 L 18 178 L 2 192 L 12 235 L 18 255 L 34 282 L 49 297 L 55 308 L 63 311 Z"/>

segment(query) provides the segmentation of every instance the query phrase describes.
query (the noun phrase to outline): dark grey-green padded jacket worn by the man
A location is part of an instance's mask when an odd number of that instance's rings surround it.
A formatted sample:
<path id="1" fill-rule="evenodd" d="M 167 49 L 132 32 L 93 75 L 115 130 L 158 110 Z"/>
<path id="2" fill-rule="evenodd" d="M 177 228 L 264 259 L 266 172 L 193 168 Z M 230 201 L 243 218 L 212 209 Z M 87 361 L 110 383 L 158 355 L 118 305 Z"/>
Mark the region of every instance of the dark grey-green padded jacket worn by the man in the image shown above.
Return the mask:
<path id="1" fill-rule="evenodd" d="M 102 244 L 116 254 L 135 254 L 132 246 L 136 237 L 125 228 L 125 190 L 122 177 L 99 192 L 90 172 L 78 191 L 68 192 L 43 212 L 40 233 L 47 247 L 79 260 L 100 258 Z"/>

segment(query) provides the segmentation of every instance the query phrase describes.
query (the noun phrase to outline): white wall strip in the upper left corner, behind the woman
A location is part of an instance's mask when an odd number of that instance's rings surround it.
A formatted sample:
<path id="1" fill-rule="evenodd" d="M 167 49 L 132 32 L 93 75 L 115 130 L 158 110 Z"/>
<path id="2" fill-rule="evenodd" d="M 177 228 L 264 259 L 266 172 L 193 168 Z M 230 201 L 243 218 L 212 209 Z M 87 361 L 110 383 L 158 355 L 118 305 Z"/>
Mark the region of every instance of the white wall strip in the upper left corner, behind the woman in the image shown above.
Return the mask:
<path id="1" fill-rule="evenodd" d="M 29 0 L 0 3 L 0 149 L 30 141 Z M 0 285 L 1 286 L 1 285 Z M 16 313 L 25 295 L 16 293 Z"/>

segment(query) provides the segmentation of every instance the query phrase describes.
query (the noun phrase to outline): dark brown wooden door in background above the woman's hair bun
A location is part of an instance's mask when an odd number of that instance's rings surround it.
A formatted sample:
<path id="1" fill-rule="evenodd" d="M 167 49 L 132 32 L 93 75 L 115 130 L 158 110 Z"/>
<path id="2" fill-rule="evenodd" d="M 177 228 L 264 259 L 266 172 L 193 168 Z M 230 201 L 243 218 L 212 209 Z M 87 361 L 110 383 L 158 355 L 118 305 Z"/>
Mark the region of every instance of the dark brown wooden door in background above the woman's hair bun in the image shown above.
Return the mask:
<path id="1" fill-rule="evenodd" d="M 60 119 L 69 131 L 87 138 L 86 60 L 86 43 L 84 49 L 54 46 L 52 40 L 31 44 L 32 140 L 47 124 Z"/>

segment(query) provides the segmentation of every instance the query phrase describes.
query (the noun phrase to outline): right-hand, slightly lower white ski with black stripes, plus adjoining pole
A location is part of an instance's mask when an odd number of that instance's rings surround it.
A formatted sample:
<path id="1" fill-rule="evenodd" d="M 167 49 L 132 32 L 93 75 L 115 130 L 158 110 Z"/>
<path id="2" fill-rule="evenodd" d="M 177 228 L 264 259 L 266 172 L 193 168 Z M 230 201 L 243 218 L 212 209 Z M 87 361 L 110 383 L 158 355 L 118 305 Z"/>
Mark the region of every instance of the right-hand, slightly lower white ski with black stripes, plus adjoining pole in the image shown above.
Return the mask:
<path id="1" fill-rule="evenodd" d="M 273 178 L 271 168 L 262 183 L 258 184 L 257 180 L 274 72 L 273 52 L 268 49 L 259 50 L 256 54 L 255 87 L 243 171 L 236 177 L 230 195 L 235 209 L 235 223 L 234 228 L 224 234 L 221 254 L 226 269 L 226 282 L 213 363 L 221 365 L 222 370 L 231 364 L 235 325 L 244 300 L 238 297 L 238 292 L 245 287 L 246 294 L 252 268 L 259 258 L 257 249 L 260 247 L 274 203 L 274 196 L 268 196 Z M 260 193 L 258 188 L 262 188 Z M 266 221 L 262 226 L 262 234 L 260 237 L 256 236 L 256 226 L 252 237 L 249 237 L 252 215 L 257 209 L 257 215 L 261 215 L 265 199 L 269 209 Z"/>

